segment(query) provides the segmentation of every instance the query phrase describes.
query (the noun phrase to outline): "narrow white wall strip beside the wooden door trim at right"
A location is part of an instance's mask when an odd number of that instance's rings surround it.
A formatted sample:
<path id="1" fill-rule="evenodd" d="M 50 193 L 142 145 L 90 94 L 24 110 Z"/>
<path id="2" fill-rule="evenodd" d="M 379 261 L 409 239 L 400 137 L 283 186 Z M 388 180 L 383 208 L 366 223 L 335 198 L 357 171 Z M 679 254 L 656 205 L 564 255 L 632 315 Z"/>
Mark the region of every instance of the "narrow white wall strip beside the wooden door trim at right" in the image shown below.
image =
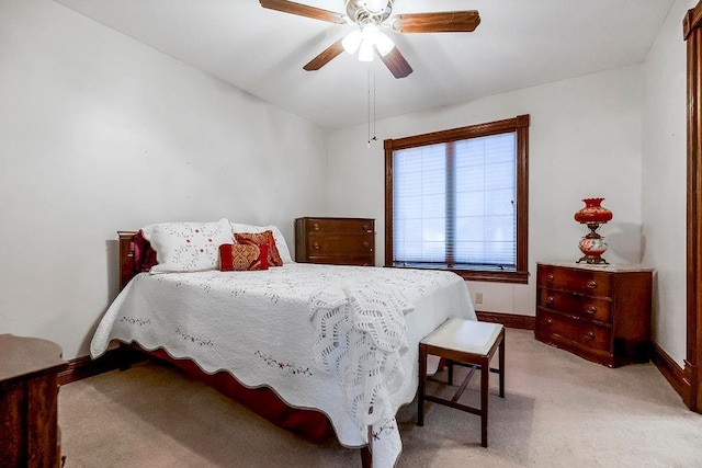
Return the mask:
<path id="1" fill-rule="evenodd" d="M 686 43 L 682 19 L 697 0 L 678 0 L 644 66 L 644 261 L 656 266 L 654 338 L 682 366 L 686 357 Z"/>

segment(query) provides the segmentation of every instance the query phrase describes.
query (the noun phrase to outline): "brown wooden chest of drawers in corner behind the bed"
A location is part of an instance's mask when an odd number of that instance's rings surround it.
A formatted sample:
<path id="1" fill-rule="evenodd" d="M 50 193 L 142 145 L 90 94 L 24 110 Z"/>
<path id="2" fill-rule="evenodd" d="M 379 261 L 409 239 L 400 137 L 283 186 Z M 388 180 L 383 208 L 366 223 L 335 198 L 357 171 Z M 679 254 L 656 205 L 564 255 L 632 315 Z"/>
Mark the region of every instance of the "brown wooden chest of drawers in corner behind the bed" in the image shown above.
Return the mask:
<path id="1" fill-rule="evenodd" d="M 375 265 L 375 220 L 295 219 L 295 261 L 335 265 Z"/>

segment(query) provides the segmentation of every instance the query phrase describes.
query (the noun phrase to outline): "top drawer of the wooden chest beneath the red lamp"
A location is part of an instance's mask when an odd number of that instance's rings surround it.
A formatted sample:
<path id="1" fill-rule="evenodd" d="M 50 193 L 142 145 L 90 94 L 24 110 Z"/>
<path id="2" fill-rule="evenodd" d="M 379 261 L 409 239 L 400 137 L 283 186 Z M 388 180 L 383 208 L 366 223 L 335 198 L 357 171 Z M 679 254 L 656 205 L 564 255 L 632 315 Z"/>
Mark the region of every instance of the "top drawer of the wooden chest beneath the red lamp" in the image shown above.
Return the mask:
<path id="1" fill-rule="evenodd" d="M 609 273 L 590 270 L 539 265 L 537 286 L 587 296 L 610 297 L 612 276 Z"/>

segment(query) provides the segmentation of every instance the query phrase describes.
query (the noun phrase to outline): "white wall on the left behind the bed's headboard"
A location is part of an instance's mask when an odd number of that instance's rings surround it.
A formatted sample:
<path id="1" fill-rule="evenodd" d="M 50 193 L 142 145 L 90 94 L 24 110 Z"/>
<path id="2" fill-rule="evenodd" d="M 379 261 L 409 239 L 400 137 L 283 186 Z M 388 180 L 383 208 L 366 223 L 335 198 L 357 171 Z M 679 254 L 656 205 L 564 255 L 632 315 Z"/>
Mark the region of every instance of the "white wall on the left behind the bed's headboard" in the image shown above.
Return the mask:
<path id="1" fill-rule="evenodd" d="M 326 209 L 326 135 L 49 0 L 0 0 L 0 333 L 88 354 L 116 231 Z"/>

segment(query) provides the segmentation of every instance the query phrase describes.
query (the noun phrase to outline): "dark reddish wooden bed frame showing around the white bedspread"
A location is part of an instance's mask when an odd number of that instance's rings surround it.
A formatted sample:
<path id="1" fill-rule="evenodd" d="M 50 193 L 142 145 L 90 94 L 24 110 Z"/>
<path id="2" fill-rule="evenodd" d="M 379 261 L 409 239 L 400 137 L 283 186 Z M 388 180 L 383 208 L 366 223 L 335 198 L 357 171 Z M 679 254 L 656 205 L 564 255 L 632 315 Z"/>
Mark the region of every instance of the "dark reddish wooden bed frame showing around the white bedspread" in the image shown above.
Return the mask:
<path id="1" fill-rule="evenodd" d="M 117 231 L 117 235 L 120 236 L 120 290 L 122 290 L 140 271 L 135 259 L 134 237 L 137 231 Z M 147 351 L 135 343 L 126 346 L 146 354 L 149 358 L 177 366 L 190 377 L 205 383 L 278 426 L 292 431 L 307 441 L 320 443 L 329 437 L 336 437 L 333 427 L 324 413 L 312 409 L 291 408 L 269 387 L 253 389 L 245 387 L 227 372 L 210 375 L 194 362 L 172 358 L 163 350 Z M 369 447 L 363 446 L 360 452 L 362 466 L 370 468 L 372 458 Z"/>

